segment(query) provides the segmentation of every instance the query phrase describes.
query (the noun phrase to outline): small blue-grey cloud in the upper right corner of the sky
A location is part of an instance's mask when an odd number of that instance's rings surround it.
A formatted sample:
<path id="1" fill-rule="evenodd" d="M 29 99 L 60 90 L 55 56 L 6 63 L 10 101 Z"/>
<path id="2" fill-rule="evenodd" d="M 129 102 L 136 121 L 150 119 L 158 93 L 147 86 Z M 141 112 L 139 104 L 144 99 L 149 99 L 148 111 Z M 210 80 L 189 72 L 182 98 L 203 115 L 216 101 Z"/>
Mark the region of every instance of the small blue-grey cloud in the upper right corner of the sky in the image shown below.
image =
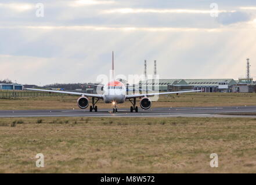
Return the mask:
<path id="1" fill-rule="evenodd" d="M 219 13 L 217 18 L 218 23 L 223 25 L 247 22 L 251 20 L 250 14 L 246 12 L 228 12 L 228 13 Z"/>

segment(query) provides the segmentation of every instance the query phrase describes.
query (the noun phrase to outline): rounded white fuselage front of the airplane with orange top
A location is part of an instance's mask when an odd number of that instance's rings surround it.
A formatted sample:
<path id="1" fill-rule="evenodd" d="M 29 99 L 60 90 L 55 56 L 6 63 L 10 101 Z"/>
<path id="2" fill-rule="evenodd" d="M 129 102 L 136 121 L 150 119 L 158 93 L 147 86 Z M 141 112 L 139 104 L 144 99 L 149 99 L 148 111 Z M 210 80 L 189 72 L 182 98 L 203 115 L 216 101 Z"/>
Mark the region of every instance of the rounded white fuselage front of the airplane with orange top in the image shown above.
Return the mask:
<path id="1" fill-rule="evenodd" d="M 123 83 L 114 81 L 104 86 L 103 101 L 105 103 L 124 103 L 126 88 Z"/>

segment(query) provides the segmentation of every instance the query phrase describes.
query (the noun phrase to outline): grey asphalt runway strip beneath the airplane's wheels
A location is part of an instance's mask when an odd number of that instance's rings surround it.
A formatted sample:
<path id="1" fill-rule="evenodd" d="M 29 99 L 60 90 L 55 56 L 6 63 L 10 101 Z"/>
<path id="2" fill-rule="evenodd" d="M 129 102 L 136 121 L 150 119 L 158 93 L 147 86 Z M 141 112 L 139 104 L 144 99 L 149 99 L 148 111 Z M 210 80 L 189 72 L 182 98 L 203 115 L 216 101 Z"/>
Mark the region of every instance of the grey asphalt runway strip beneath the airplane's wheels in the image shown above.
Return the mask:
<path id="1" fill-rule="evenodd" d="M 138 113 L 131 113 L 129 109 L 98 109 L 98 112 L 81 110 L 0 110 L 0 117 L 60 117 L 60 116 L 85 116 L 85 117 L 256 117 L 220 115 L 218 113 L 256 112 L 256 106 L 223 106 L 223 107 L 194 107 L 194 108 L 152 108 L 139 109 Z"/>

